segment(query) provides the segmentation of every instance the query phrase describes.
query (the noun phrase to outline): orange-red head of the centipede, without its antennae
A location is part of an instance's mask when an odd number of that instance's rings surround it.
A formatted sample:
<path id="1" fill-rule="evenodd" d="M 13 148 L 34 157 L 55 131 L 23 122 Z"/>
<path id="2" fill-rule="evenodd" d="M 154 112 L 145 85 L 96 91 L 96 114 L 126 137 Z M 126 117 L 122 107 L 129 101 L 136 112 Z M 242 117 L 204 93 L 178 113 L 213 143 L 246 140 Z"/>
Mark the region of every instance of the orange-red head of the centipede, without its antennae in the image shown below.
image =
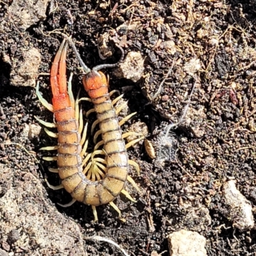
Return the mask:
<path id="1" fill-rule="evenodd" d="M 92 98 L 98 98 L 108 93 L 108 81 L 102 72 L 92 70 L 83 78 L 84 89 Z"/>

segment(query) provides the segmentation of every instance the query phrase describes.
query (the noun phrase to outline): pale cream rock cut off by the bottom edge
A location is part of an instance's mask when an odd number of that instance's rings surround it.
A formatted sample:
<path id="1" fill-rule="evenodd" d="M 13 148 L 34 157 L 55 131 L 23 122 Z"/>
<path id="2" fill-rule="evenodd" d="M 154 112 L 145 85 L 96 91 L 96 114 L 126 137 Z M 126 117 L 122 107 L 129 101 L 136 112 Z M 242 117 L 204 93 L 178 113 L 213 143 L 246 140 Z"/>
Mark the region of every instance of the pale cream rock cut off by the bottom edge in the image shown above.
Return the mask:
<path id="1" fill-rule="evenodd" d="M 205 243 L 204 236 L 184 229 L 168 236 L 170 256 L 206 256 Z"/>

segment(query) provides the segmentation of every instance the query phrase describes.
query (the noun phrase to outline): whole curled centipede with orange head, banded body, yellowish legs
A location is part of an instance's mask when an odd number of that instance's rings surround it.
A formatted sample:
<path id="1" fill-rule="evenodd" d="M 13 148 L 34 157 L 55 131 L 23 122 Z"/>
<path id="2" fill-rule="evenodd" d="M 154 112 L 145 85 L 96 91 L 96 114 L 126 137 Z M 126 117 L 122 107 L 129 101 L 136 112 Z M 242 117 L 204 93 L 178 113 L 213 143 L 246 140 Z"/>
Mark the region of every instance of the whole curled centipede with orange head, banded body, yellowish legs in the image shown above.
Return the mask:
<path id="1" fill-rule="evenodd" d="M 140 175 L 140 166 L 138 163 L 128 159 L 127 148 L 142 140 L 141 134 L 134 132 L 122 133 L 121 126 L 127 122 L 133 115 L 132 113 L 118 121 L 118 113 L 125 107 L 115 108 L 116 102 L 124 95 L 119 95 L 116 99 L 111 97 L 116 90 L 108 92 L 108 79 L 99 71 L 102 68 L 116 67 L 124 59 L 122 48 L 122 58 L 115 64 L 103 64 L 88 68 L 81 59 L 76 46 L 72 40 L 65 38 L 58 49 L 51 67 L 50 81 L 52 91 L 52 104 L 42 97 L 39 92 L 39 81 L 36 84 L 36 95 L 45 108 L 54 115 L 54 122 L 45 122 L 36 117 L 36 120 L 45 126 L 45 132 L 58 139 L 58 144 L 40 148 L 41 150 L 57 150 L 56 156 L 43 157 L 46 161 L 57 161 L 58 168 L 49 168 L 50 172 L 58 173 L 61 184 L 52 186 L 47 179 L 45 182 L 51 189 L 65 189 L 72 196 L 68 204 L 59 204 L 62 207 L 68 207 L 76 201 L 86 205 L 91 205 L 94 220 L 98 221 L 96 207 L 109 204 L 113 207 L 121 219 L 121 211 L 113 202 L 120 193 L 125 195 L 132 202 L 134 198 L 125 190 L 126 182 L 140 193 L 140 188 L 136 185 L 129 175 L 129 166 L 134 166 Z M 67 47 L 72 46 L 74 53 L 84 70 L 83 86 L 89 97 L 74 99 L 72 93 L 72 76 L 67 81 Z M 93 104 L 93 108 L 86 113 L 86 118 L 91 113 L 96 113 L 97 119 L 92 124 L 91 134 L 99 125 L 99 130 L 93 136 L 95 147 L 93 152 L 88 150 L 88 122 L 84 125 L 83 112 L 79 107 L 79 102 L 87 100 Z M 47 128 L 55 128 L 57 132 L 52 132 Z M 101 140 L 98 138 L 101 135 Z M 136 135 L 134 141 L 125 145 L 124 139 L 127 136 Z M 97 142 L 99 141 L 99 142 Z M 101 149 L 100 149 L 101 148 Z"/>

